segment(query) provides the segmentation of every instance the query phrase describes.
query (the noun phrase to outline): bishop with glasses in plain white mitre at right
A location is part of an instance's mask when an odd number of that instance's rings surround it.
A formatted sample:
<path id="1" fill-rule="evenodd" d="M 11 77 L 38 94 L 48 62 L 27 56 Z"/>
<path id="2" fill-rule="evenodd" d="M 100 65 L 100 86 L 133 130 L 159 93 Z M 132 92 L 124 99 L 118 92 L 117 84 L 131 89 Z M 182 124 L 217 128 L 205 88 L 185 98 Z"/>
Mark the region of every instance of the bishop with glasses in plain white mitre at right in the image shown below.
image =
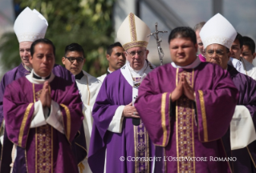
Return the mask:
<path id="1" fill-rule="evenodd" d="M 256 82 L 253 78 L 239 73 L 238 70 L 228 64 L 230 54 L 234 54 L 232 49 L 241 48 L 237 40 L 239 35 L 226 18 L 221 14 L 216 14 L 206 22 L 201 29 L 200 36 L 205 45 L 206 61 L 227 70 L 239 91 L 238 103 L 230 128 L 222 137 L 227 156 L 237 159 L 235 162 L 230 162 L 230 167 L 234 169 L 233 172 L 256 172 L 256 134 L 254 128 Z M 230 102 L 226 104 L 230 104 Z"/>

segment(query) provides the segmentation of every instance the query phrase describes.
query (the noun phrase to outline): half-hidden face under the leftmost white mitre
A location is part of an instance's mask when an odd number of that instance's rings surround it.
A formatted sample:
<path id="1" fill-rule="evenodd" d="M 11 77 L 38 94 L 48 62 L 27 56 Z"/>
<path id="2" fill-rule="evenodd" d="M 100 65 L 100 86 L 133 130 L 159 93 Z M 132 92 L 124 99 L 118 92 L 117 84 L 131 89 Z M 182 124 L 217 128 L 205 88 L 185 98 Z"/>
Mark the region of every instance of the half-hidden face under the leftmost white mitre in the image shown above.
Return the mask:
<path id="1" fill-rule="evenodd" d="M 19 42 L 19 56 L 25 66 L 32 67 L 30 64 L 30 46 L 32 42 Z"/>

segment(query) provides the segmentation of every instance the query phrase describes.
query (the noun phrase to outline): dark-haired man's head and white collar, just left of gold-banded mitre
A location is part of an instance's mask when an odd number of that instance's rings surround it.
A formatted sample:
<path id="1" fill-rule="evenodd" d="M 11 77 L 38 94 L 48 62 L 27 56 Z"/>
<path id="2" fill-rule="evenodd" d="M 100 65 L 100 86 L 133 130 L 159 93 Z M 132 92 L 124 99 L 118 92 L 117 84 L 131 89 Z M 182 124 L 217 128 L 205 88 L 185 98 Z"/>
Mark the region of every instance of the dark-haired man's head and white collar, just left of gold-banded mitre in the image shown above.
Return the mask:
<path id="1" fill-rule="evenodd" d="M 107 74 L 103 74 L 102 76 L 98 77 L 101 82 L 104 81 L 104 78 L 106 78 L 108 74 L 111 74 L 113 71 L 124 66 L 124 48 L 120 42 L 115 42 L 114 44 L 108 46 L 106 58 L 108 60 L 108 71 Z"/>

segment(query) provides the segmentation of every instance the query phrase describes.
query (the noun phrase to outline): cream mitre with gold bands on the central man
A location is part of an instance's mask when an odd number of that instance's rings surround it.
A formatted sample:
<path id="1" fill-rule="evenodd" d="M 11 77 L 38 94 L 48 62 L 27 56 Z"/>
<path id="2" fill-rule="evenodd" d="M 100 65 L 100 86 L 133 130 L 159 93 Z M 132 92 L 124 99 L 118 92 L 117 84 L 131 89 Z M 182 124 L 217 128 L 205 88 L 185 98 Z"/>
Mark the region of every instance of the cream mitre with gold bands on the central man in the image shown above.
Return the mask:
<path id="1" fill-rule="evenodd" d="M 149 27 L 135 14 L 128 14 L 117 31 L 117 39 L 123 45 L 124 50 L 132 47 L 147 47 L 151 34 Z"/>

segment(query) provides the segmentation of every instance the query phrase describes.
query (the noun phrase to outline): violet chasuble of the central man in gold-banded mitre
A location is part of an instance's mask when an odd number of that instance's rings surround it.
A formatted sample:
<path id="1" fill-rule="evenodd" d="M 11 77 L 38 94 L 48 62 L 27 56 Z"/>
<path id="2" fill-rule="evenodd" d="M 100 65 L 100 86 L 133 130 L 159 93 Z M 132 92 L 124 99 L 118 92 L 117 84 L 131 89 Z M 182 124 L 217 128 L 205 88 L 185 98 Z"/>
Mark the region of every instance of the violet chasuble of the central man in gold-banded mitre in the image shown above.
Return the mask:
<path id="1" fill-rule="evenodd" d="M 149 157 L 153 156 L 154 146 L 143 123 L 133 126 L 132 119 L 124 117 L 120 133 L 108 131 L 116 109 L 129 103 L 132 103 L 132 86 L 120 70 L 108 74 L 92 111 L 94 122 L 88 156 L 92 172 L 104 172 L 106 151 L 106 173 L 151 172 L 152 160 Z M 134 161 L 134 157 L 141 160 Z"/>

